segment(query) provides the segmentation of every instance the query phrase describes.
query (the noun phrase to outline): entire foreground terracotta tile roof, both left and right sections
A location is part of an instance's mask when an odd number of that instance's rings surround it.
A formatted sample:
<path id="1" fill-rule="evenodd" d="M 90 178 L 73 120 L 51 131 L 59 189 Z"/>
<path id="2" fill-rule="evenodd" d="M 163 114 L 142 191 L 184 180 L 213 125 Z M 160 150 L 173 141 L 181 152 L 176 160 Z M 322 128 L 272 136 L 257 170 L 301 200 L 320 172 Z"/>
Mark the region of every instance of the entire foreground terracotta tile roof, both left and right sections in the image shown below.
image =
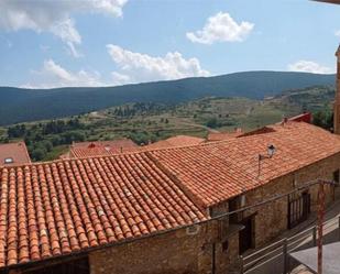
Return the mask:
<path id="1" fill-rule="evenodd" d="M 339 135 L 289 121 L 220 142 L 2 167 L 0 267 L 205 220 L 206 207 L 336 153 Z"/>

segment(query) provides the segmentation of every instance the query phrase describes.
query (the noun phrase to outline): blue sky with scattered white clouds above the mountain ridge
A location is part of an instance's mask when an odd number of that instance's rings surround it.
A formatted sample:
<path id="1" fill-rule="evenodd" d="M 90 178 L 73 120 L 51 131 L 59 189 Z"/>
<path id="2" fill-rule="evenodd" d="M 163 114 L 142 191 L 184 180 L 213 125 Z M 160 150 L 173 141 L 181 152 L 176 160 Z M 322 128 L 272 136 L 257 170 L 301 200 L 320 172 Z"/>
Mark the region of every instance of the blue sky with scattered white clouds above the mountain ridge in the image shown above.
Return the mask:
<path id="1" fill-rule="evenodd" d="M 0 0 L 0 86 L 333 73 L 339 18 L 308 0 Z"/>

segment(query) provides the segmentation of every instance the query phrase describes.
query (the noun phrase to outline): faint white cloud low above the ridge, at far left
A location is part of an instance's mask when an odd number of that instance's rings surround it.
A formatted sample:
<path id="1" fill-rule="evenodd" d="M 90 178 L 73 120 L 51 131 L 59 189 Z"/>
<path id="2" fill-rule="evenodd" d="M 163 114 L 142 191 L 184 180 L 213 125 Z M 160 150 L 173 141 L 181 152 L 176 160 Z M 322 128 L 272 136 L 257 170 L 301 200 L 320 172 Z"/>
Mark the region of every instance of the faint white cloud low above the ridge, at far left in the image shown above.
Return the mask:
<path id="1" fill-rule="evenodd" d="M 97 87 L 106 86 L 101 81 L 98 72 L 86 72 L 84 69 L 73 73 L 53 59 L 47 59 L 41 70 L 31 72 L 33 80 L 22 85 L 24 88 L 56 88 L 56 87 Z"/>

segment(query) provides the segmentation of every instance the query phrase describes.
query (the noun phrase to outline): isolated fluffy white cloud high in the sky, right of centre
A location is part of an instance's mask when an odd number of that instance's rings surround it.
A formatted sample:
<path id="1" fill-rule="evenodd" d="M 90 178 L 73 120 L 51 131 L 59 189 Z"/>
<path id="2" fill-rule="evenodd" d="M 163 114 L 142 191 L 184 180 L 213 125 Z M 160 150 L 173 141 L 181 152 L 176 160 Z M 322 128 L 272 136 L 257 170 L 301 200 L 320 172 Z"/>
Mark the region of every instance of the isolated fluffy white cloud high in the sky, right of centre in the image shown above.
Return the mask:
<path id="1" fill-rule="evenodd" d="M 188 32 L 193 43 L 212 44 L 215 42 L 242 42 L 254 29 L 254 24 L 242 21 L 238 24 L 229 13 L 219 12 L 210 17 L 200 31 Z"/>

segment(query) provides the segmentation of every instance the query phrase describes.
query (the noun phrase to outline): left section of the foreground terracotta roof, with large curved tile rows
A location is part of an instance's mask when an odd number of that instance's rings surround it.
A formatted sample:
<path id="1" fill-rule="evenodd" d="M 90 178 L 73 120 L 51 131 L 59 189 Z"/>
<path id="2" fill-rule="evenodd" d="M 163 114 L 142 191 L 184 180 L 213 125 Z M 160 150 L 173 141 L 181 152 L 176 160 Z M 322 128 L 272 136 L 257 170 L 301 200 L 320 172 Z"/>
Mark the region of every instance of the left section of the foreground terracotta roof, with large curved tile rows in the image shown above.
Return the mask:
<path id="1" fill-rule="evenodd" d="M 145 153 L 0 168 L 0 267 L 205 219 Z"/>

